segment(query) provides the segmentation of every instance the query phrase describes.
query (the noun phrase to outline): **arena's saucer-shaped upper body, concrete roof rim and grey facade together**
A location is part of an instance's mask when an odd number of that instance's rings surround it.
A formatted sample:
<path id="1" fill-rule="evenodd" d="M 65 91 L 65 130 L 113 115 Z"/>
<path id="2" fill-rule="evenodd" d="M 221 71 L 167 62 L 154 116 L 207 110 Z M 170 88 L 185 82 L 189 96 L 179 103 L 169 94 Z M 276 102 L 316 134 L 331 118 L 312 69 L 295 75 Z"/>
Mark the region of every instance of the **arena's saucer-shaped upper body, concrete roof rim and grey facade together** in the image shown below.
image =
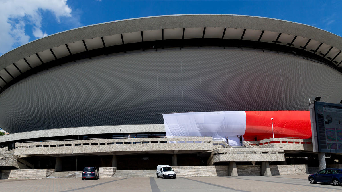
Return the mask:
<path id="1" fill-rule="evenodd" d="M 312 26 L 240 15 L 81 27 L 0 57 L 0 127 L 17 133 L 162 124 L 161 114 L 175 112 L 307 110 L 314 96 L 341 99 L 341 45 L 340 36 Z"/>

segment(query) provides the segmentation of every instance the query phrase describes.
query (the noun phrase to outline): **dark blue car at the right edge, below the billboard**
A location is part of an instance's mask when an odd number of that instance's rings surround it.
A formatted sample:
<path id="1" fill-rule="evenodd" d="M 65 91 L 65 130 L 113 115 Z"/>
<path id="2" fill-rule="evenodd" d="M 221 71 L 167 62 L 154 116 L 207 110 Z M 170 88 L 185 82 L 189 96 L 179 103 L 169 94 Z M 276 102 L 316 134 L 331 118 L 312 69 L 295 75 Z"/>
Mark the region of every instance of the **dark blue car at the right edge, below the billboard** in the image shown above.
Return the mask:
<path id="1" fill-rule="evenodd" d="M 339 186 L 342 181 L 342 169 L 327 168 L 322 169 L 317 173 L 309 175 L 307 178 L 310 183 L 332 183 L 334 186 Z"/>

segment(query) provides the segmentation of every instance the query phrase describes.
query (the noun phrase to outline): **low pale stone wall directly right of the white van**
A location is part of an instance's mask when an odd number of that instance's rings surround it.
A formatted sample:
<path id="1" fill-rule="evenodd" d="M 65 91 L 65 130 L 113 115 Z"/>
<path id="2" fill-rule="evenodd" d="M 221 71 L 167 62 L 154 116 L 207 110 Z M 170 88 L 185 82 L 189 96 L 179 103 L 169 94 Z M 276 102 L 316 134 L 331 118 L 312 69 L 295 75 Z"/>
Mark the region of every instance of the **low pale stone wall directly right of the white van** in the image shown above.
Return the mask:
<path id="1" fill-rule="evenodd" d="M 215 177 L 228 176 L 228 165 L 208 166 L 172 166 L 180 177 Z"/>

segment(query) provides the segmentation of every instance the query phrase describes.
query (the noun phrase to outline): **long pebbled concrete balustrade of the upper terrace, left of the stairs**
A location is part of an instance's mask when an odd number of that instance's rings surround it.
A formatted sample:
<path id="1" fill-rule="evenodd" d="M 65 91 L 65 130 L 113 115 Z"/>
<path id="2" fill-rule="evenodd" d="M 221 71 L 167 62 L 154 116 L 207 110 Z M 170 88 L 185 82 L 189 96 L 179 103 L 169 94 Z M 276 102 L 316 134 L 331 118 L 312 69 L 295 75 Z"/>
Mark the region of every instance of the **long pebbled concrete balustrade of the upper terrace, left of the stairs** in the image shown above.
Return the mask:
<path id="1" fill-rule="evenodd" d="M 42 141 L 16 143 L 14 154 L 110 154 L 111 152 L 132 153 L 134 151 L 211 151 L 216 148 L 212 137 L 181 138 L 105 138 L 65 141 Z M 217 142 L 216 142 L 217 143 Z M 222 142 L 221 142 L 222 143 Z M 118 153 L 117 153 L 118 154 Z"/>

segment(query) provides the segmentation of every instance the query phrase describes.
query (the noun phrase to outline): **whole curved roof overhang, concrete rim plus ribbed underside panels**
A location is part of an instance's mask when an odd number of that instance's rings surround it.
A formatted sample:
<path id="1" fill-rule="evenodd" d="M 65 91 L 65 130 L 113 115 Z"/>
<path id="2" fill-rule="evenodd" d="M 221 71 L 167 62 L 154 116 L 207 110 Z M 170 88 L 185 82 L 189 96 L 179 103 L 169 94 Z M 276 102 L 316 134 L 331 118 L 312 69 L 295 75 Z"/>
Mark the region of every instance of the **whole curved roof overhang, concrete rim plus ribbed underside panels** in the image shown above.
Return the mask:
<path id="1" fill-rule="evenodd" d="M 342 69 L 342 38 L 316 27 L 243 15 L 168 15 L 80 27 L 13 49 L 0 57 L 0 92 L 39 71 L 87 57 L 202 45 L 283 50 Z"/>

